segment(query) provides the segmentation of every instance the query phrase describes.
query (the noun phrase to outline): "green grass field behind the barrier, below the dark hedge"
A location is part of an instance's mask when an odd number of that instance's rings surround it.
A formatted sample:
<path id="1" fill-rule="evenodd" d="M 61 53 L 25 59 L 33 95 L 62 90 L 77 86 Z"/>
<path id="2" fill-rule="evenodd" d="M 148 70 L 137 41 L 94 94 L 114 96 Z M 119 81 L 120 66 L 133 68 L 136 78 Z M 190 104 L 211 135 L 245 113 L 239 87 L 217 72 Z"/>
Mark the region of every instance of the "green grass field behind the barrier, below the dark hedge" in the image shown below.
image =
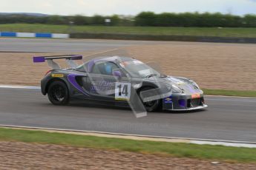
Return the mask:
<path id="1" fill-rule="evenodd" d="M 0 24 L 1 31 L 30 33 L 124 33 L 145 35 L 203 35 L 220 37 L 256 37 L 256 28 L 217 27 L 105 27 L 48 24 Z"/>

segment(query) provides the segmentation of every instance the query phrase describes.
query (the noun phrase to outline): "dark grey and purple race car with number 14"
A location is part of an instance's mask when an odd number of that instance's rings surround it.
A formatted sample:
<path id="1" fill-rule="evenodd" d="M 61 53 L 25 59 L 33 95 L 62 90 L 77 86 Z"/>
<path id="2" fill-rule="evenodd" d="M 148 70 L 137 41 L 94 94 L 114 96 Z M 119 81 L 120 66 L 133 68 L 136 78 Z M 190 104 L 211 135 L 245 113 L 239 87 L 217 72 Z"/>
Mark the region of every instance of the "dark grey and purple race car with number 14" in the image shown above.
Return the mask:
<path id="1" fill-rule="evenodd" d="M 68 68 L 55 62 L 65 59 Z M 128 57 L 99 57 L 77 65 L 82 55 L 33 57 L 52 67 L 41 81 L 43 95 L 54 105 L 66 105 L 71 99 L 128 106 L 153 112 L 206 108 L 203 91 L 192 80 L 163 75 L 157 70 Z"/>

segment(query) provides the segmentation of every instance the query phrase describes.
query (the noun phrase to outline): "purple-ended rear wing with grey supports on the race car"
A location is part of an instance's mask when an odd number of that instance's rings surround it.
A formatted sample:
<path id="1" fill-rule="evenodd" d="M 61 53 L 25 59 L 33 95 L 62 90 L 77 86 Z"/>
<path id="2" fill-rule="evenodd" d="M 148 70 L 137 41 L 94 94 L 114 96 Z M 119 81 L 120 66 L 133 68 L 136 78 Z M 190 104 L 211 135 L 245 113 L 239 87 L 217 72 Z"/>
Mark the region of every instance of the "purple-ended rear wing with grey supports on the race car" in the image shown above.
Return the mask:
<path id="1" fill-rule="evenodd" d="M 76 63 L 73 60 L 82 60 L 82 55 L 48 55 L 48 56 L 36 56 L 33 57 L 34 63 L 43 63 L 47 61 L 47 64 L 53 69 L 61 69 L 59 64 L 54 62 L 56 59 L 66 59 L 66 63 L 71 67 L 77 67 Z"/>

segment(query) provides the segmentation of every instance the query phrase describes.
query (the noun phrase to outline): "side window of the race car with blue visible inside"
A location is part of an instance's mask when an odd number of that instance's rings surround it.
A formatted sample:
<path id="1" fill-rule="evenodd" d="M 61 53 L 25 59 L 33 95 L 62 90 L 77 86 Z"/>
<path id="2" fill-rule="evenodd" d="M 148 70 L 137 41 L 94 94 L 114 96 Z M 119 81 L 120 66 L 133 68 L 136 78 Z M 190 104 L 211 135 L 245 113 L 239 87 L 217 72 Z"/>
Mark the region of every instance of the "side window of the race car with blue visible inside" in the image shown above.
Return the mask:
<path id="1" fill-rule="evenodd" d="M 116 64 L 108 61 L 98 62 L 94 64 L 92 73 L 102 75 L 112 75 L 113 70 L 119 69 Z"/>

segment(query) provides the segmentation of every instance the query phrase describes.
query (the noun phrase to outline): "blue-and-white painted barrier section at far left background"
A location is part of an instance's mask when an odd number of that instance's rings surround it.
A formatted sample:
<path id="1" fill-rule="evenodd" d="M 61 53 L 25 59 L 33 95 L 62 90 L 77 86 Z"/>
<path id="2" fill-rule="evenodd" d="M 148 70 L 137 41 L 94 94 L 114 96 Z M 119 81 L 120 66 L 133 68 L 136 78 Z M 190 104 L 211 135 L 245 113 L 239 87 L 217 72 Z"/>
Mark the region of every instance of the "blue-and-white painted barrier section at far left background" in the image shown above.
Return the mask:
<path id="1" fill-rule="evenodd" d="M 15 33 L 15 32 L 0 32 L 0 37 L 69 38 L 69 34 L 59 34 L 59 33 Z"/>

